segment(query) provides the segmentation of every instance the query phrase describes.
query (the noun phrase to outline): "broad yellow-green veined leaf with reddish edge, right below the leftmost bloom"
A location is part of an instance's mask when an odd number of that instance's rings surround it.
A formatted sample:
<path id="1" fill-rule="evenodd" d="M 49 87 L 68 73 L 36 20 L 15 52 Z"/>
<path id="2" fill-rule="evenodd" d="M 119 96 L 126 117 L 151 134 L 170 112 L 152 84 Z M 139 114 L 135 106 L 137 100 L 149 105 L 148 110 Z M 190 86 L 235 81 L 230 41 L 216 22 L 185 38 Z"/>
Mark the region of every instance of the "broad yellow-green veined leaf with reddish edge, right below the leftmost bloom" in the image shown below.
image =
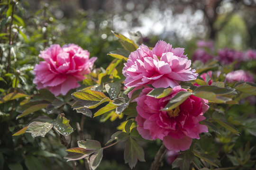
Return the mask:
<path id="1" fill-rule="evenodd" d="M 104 102 L 110 102 L 110 98 L 107 97 L 104 93 L 93 91 L 90 89 L 85 89 L 82 91 L 78 91 L 72 94 L 72 97 L 76 101 L 82 102 L 84 107 L 88 109 L 93 109 L 99 106 Z"/>

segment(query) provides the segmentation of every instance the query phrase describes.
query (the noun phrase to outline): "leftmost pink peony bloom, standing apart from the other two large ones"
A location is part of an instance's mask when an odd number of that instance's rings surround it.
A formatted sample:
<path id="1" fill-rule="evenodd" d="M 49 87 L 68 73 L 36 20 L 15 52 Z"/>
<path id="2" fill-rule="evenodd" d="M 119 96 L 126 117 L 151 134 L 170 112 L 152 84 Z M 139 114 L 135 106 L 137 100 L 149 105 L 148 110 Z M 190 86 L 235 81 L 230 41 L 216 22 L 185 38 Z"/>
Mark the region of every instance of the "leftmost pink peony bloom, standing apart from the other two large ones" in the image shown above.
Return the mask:
<path id="1" fill-rule="evenodd" d="M 90 53 L 75 44 L 61 47 L 58 44 L 51 45 L 44 51 L 40 51 L 40 61 L 34 69 L 37 89 L 47 88 L 55 94 L 65 95 L 70 89 L 80 85 L 77 81 L 83 80 L 83 74 L 91 72 L 96 57 L 89 59 Z"/>

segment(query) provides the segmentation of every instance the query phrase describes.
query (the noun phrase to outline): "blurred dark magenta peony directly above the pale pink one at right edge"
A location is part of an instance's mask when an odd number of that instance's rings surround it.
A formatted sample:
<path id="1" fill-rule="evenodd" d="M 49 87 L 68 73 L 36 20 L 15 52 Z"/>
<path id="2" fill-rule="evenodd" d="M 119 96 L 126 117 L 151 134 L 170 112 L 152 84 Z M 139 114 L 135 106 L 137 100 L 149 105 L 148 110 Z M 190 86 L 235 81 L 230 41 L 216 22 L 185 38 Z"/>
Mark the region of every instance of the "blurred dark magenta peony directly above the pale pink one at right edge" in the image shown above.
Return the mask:
<path id="1" fill-rule="evenodd" d="M 218 60 L 221 64 L 226 65 L 231 64 L 236 60 L 241 61 L 243 60 L 243 52 L 232 49 L 222 49 L 219 50 Z"/>

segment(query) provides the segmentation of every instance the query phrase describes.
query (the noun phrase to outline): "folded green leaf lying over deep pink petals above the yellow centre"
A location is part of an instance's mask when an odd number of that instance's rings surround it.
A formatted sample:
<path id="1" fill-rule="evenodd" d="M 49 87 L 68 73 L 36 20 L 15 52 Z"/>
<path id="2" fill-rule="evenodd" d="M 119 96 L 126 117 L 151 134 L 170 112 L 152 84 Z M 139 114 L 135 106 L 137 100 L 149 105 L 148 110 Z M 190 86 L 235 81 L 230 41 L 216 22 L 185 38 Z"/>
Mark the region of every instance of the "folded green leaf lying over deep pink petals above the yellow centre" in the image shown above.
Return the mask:
<path id="1" fill-rule="evenodd" d="M 164 111 L 173 110 L 175 107 L 183 103 L 192 93 L 180 91 L 175 94 L 175 96 L 166 104 Z"/>

